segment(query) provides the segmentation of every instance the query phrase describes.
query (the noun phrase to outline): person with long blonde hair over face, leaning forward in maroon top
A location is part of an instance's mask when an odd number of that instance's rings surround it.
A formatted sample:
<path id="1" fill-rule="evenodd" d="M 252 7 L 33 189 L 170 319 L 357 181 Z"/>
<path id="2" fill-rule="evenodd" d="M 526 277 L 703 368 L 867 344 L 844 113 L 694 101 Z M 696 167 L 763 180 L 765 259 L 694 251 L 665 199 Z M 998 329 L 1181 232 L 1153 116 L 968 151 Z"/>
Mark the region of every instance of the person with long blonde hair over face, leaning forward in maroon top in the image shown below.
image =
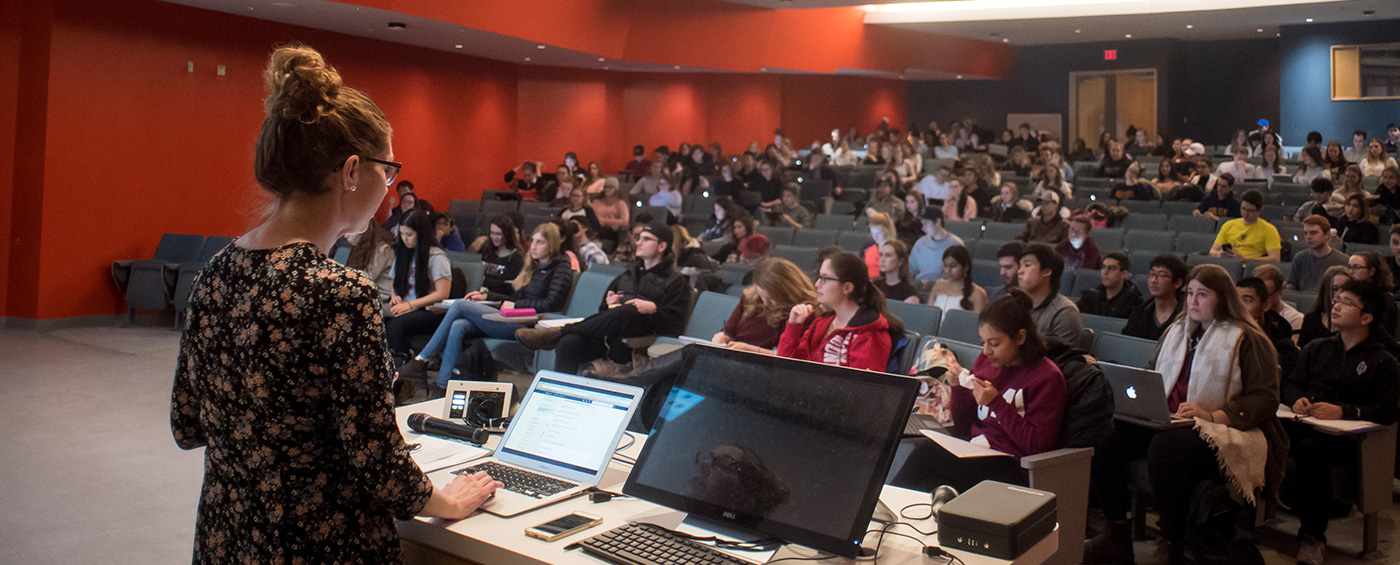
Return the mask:
<path id="1" fill-rule="evenodd" d="M 739 305 L 711 341 L 731 350 L 771 354 L 788 312 L 799 303 L 818 303 L 812 281 L 792 262 L 769 257 L 753 270 L 753 285 L 743 289 Z"/>

